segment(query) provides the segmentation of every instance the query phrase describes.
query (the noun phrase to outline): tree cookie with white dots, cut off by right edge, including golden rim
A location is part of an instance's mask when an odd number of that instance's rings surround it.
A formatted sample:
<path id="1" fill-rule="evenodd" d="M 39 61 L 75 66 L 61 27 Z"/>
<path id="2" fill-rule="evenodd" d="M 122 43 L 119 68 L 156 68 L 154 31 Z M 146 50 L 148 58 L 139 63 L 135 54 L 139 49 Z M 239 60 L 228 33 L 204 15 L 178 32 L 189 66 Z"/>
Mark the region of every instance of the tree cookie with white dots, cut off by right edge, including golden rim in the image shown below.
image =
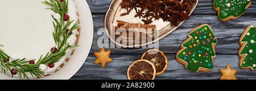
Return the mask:
<path id="1" fill-rule="evenodd" d="M 241 57 L 239 65 L 242 69 L 256 70 L 256 27 L 249 26 L 243 31 L 240 38 L 241 48 L 238 55 Z"/>

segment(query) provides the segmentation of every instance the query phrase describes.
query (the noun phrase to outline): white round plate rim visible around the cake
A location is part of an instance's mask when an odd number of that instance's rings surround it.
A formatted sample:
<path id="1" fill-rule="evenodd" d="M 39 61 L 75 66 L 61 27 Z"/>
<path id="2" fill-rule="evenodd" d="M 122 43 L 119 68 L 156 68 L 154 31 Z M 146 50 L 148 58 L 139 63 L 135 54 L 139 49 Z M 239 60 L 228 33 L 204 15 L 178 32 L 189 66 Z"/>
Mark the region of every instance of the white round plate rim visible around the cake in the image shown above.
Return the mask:
<path id="1" fill-rule="evenodd" d="M 53 73 L 50 76 L 40 78 L 47 80 L 68 80 L 71 78 L 84 64 L 86 57 L 90 52 L 90 48 L 92 46 L 93 40 L 93 19 L 92 14 L 90 13 L 90 9 L 88 3 L 85 0 L 75 0 L 77 5 L 77 10 L 80 15 L 80 26 L 81 26 L 81 35 L 79 39 L 79 46 L 76 48 L 75 53 L 71 56 L 71 60 L 68 61 L 67 64 L 64 65 L 60 71 Z M 0 73 L 0 79 L 6 80 L 17 80 L 20 79 L 18 77 L 11 78 L 10 76 L 5 75 L 4 73 Z"/>

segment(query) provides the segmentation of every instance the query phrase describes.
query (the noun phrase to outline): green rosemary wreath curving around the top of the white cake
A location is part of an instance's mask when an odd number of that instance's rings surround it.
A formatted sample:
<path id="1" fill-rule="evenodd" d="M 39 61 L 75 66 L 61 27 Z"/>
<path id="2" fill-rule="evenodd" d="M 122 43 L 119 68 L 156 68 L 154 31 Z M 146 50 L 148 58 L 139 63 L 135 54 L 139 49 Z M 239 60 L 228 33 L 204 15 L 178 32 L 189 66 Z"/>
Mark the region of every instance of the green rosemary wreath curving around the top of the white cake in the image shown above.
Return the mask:
<path id="1" fill-rule="evenodd" d="M 67 32 L 68 27 L 71 26 L 71 24 L 74 22 L 74 20 L 69 20 L 69 19 L 67 22 L 64 21 L 64 14 L 68 13 L 68 0 L 67 1 L 63 0 L 62 3 L 59 0 L 49 0 L 49 2 L 45 1 L 42 3 L 50 6 L 50 8 L 46 8 L 46 9 L 50 9 L 55 13 L 59 13 L 61 15 L 60 21 L 53 18 L 53 15 L 52 15 L 52 18 L 54 20 L 52 23 L 55 28 L 55 31 L 53 32 L 53 39 L 55 40 L 57 51 L 55 53 L 48 52 L 44 57 L 43 55 L 41 55 L 40 59 L 36 64 L 28 64 L 30 61 L 34 61 L 34 60 L 26 60 L 26 58 L 16 59 L 11 62 L 5 63 L 5 60 L 9 59 L 10 56 L 8 56 L 0 48 L 0 67 L 3 73 L 9 73 L 11 72 L 11 69 L 15 69 L 15 71 L 17 72 L 20 78 L 24 77 L 28 79 L 27 73 L 30 73 L 32 77 L 36 76 L 36 77 L 42 78 L 44 75 L 44 72 L 40 71 L 39 69 L 40 64 L 48 65 L 48 64 L 56 63 L 66 55 L 67 49 L 78 47 L 78 46 L 70 46 L 69 44 L 67 44 L 67 39 L 71 35 L 70 34 L 71 31 L 80 27 L 79 23 L 76 21 L 76 23 L 73 24 L 73 26 Z M 0 44 L 0 46 L 2 45 Z"/>

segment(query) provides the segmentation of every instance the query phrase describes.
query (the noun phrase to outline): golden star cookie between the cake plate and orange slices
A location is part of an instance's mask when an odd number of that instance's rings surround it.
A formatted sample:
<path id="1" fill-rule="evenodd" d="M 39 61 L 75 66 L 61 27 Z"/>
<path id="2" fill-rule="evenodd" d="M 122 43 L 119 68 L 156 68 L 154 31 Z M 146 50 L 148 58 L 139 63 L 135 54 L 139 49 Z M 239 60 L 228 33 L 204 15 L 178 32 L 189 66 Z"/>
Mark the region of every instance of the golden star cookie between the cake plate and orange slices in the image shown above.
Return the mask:
<path id="1" fill-rule="evenodd" d="M 112 63 L 112 59 L 109 57 L 111 51 L 105 51 L 105 48 L 102 47 L 100 52 L 94 52 L 94 56 L 97 57 L 95 64 L 100 64 L 101 67 L 104 68 L 107 62 Z"/>

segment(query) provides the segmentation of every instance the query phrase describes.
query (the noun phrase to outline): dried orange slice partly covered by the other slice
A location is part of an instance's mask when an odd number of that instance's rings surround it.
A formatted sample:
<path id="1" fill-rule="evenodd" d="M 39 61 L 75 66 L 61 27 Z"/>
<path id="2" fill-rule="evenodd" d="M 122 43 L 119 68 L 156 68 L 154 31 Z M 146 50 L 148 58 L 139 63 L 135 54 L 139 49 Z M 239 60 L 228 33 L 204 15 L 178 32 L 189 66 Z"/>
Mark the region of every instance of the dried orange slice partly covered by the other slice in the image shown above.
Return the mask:
<path id="1" fill-rule="evenodd" d="M 161 75 L 167 69 L 168 59 L 162 51 L 149 49 L 143 53 L 141 59 L 150 60 L 155 64 L 156 75 Z"/>

